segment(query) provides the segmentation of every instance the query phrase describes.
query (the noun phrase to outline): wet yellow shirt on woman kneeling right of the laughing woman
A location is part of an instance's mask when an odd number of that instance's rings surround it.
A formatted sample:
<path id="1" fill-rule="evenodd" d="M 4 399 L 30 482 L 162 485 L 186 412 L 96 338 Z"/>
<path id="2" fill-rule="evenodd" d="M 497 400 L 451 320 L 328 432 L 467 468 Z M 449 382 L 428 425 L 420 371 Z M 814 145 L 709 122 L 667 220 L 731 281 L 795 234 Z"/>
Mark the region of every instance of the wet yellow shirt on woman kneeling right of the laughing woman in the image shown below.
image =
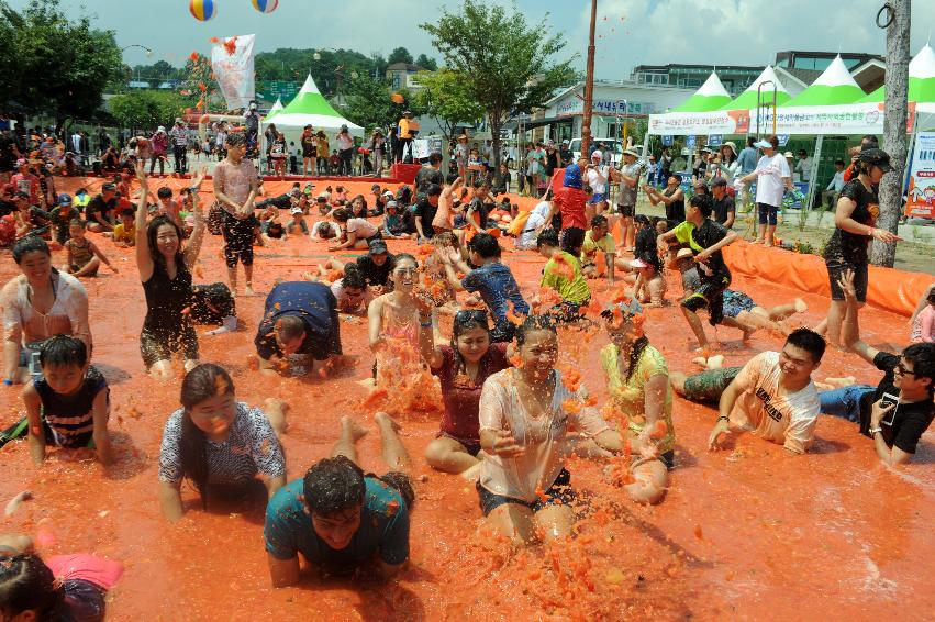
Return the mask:
<path id="1" fill-rule="evenodd" d="M 646 382 L 653 376 L 669 375 L 666 359 L 652 345 L 643 348 L 636 369 L 625 380 L 620 373 L 620 348 L 608 344 L 601 349 L 601 367 L 608 380 L 608 392 L 616 410 L 627 419 L 627 426 L 634 434 L 643 432 L 646 424 Z M 625 380 L 625 381 L 624 381 Z M 669 426 L 668 432 L 659 442 L 659 453 L 670 452 L 676 446 L 676 429 L 672 426 L 672 387 L 666 382 L 666 401 L 659 419 Z"/>

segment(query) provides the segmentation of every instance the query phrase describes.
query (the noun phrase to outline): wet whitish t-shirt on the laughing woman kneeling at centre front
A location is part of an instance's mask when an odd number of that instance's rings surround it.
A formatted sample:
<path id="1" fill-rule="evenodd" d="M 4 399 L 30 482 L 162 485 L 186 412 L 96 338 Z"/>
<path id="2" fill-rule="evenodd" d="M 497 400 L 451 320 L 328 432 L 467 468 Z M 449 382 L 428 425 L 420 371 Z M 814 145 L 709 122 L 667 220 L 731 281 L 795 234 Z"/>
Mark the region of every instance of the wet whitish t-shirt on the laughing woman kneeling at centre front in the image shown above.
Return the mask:
<path id="1" fill-rule="evenodd" d="M 550 412 L 537 420 L 530 419 L 520 401 L 516 374 L 511 367 L 483 382 L 478 419 L 481 431 L 512 432 L 525 452 L 512 458 L 486 456 L 480 466 L 480 485 L 494 495 L 533 502 L 537 499 L 536 490 L 548 490 L 561 473 L 569 427 L 593 437 L 610 426 L 593 408 L 583 407 L 577 413 L 565 410 L 566 400 L 587 399 L 587 389 L 581 386 L 571 392 L 557 370 Z"/>

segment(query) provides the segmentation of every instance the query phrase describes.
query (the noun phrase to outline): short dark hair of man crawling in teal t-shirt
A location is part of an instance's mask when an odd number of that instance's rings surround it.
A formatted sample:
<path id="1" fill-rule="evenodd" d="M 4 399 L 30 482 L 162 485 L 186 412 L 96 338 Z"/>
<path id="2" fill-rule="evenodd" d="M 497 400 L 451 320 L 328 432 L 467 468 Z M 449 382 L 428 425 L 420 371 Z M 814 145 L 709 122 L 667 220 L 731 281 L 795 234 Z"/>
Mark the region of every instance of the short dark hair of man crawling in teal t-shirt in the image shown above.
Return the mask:
<path id="1" fill-rule="evenodd" d="M 361 506 L 366 491 L 364 471 L 347 456 L 321 459 L 302 478 L 305 506 L 320 517 Z"/>

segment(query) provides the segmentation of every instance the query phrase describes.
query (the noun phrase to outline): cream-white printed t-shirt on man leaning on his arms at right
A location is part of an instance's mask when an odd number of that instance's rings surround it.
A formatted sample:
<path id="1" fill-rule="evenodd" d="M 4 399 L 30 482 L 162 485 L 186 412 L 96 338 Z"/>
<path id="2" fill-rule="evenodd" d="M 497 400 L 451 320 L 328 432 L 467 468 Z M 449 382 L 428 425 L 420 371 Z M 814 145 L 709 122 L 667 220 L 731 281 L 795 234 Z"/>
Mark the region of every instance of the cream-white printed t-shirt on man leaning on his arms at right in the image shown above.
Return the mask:
<path id="1" fill-rule="evenodd" d="M 734 379 L 743 390 L 731 423 L 795 454 L 804 454 L 815 435 L 821 404 L 815 384 L 794 393 L 779 395 L 779 353 L 763 352 L 744 365 Z"/>

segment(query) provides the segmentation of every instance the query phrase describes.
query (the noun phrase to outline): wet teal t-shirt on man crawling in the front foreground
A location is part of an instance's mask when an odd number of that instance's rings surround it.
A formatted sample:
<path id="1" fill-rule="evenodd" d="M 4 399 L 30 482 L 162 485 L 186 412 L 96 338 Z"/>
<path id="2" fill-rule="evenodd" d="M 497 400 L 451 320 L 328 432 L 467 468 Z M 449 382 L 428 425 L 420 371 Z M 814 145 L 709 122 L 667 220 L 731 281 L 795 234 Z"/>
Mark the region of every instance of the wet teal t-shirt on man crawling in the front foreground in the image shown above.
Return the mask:
<path id="1" fill-rule="evenodd" d="M 409 511 L 393 487 L 365 477 L 367 491 L 360 509 L 360 529 L 342 551 L 334 551 L 312 526 L 303 499 L 302 480 L 282 487 L 266 508 L 266 551 L 277 559 L 297 553 L 310 564 L 332 573 L 346 573 L 379 552 L 385 564 L 398 566 L 409 558 Z"/>

